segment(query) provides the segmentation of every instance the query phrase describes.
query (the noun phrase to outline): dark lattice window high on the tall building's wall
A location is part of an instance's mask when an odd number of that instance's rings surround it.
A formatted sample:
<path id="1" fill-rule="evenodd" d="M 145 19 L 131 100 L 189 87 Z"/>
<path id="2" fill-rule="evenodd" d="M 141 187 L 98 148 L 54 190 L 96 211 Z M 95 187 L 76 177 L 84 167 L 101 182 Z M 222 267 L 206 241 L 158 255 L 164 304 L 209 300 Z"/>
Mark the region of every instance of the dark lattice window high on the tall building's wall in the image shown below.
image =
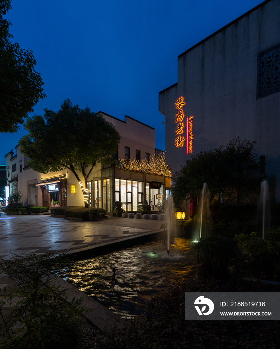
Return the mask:
<path id="1" fill-rule="evenodd" d="M 280 45 L 258 55 L 257 98 L 280 92 Z"/>

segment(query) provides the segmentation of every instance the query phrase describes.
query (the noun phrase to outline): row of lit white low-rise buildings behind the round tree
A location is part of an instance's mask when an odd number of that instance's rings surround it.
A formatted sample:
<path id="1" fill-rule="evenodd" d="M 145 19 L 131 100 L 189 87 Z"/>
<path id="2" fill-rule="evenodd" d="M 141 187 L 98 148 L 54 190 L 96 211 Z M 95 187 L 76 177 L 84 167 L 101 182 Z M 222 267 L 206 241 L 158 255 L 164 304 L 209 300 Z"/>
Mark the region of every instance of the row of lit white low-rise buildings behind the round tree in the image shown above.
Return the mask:
<path id="1" fill-rule="evenodd" d="M 149 159 L 151 155 L 163 153 L 155 148 L 155 129 L 125 116 L 125 121 L 99 112 L 112 123 L 121 135 L 118 159 Z M 84 206 L 79 183 L 71 171 L 38 173 L 28 166 L 28 159 L 16 146 L 16 154 L 11 150 L 6 157 L 7 183 L 10 193 L 20 190 L 23 205 L 50 207 L 52 201 L 60 206 Z M 120 162 L 119 162 L 120 164 Z M 155 185 L 157 183 L 157 185 Z M 159 173 L 125 170 L 121 164 L 93 168 L 88 181 L 89 204 L 104 208 L 112 214 L 115 201 L 121 201 L 125 211 L 136 211 L 137 205 L 151 203 L 154 210 L 163 209 L 165 191 L 170 190 L 171 178 Z"/>

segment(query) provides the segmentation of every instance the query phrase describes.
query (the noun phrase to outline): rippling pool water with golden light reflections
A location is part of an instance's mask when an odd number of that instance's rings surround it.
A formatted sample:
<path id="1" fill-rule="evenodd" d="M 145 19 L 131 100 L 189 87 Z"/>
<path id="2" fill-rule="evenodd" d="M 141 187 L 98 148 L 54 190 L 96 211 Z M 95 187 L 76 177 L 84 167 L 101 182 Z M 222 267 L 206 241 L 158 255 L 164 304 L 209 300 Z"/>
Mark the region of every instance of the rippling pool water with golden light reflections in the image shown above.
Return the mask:
<path id="1" fill-rule="evenodd" d="M 77 261 L 76 270 L 60 276 L 122 317 L 134 316 L 147 309 L 147 299 L 164 289 L 165 280 L 193 270 L 189 242 L 173 239 L 169 255 L 162 240 L 116 250 Z"/>

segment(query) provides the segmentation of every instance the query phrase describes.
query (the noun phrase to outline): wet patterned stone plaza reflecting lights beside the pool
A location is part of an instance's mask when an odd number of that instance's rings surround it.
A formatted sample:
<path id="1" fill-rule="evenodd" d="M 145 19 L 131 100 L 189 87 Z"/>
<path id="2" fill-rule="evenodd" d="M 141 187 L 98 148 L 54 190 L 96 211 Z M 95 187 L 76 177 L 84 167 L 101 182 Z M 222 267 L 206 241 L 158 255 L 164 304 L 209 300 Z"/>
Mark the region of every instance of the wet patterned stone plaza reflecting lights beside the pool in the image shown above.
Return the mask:
<path id="1" fill-rule="evenodd" d="M 0 258 L 12 254 L 89 249 L 115 239 L 160 231 L 165 221 L 108 217 L 73 221 L 47 215 L 0 215 Z"/>

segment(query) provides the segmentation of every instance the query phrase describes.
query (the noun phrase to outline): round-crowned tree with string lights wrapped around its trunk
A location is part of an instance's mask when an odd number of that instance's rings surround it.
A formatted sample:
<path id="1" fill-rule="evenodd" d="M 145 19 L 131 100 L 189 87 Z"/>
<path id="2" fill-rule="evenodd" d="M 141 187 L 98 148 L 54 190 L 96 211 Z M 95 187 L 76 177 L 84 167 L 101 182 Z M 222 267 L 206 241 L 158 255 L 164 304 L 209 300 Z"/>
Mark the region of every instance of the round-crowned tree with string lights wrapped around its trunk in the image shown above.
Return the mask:
<path id="1" fill-rule="evenodd" d="M 29 132 L 19 140 L 21 152 L 30 158 L 27 164 L 41 172 L 72 171 L 88 207 L 88 178 L 97 163 L 114 162 L 120 142 L 115 127 L 88 107 L 80 109 L 65 100 L 58 112 L 44 109 L 24 124 Z"/>

